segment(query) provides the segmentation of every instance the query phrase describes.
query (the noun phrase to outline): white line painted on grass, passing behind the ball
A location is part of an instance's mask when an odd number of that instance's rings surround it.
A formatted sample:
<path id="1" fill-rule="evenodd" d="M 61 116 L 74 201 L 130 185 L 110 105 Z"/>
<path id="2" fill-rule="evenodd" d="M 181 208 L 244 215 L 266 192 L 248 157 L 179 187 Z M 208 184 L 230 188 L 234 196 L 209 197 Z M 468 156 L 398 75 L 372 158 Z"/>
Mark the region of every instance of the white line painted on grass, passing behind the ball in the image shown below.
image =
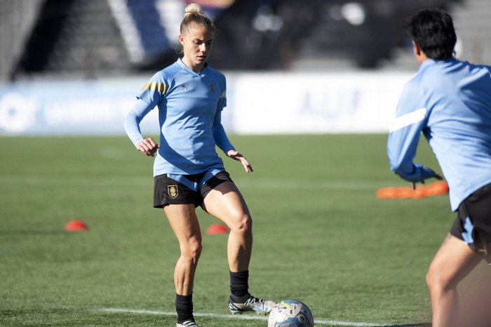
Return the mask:
<path id="1" fill-rule="evenodd" d="M 114 312 L 114 313 L 126 313 L 126 314 L 157 314 L 159 316 L 175 316 L 175 312 L 163 312 L 163 311 L 154 311 L 154 310 L 140 310 L 140 309 L 121 309 L 121 308 L 107 308 L 101 309 L 101 311 L 105 312 Z M 194 316 L 209 316 L 213 318 L 222 318 L 222 319 L 242 319 L 242 320 L 267 320 L 266 316 L 255 316 L 255 315 L 240 315 L 240 316 L 232 316 L 231 314 L 210 314 L 210 313 L 194 313 Z M 356 323 L 350 321 L 333 321 L 333 320 L 324 320 L 324 319 L 315 319 L 316 325 L 326 325 L 326 326 L 353 326 L 353 327 L 377 327 L 384 326 L 381 323 Z"/>

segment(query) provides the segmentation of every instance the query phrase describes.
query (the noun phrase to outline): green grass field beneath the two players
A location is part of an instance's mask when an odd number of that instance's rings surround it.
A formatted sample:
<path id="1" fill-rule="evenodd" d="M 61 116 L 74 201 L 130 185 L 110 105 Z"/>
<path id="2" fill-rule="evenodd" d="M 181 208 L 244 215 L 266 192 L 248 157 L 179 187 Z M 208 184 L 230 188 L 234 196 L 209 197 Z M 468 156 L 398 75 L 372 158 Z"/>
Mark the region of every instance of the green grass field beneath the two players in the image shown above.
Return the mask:
<path id="1" fill-rule="evenodd" d="M 424 278 L 454 213 L 446 195 L 377 199 L 408 186 L 389 171 L 386 135 L 231 140 L 255 169 L 224 159 L 253 214 L 251 293 L 302 300 L 316 326 L 430 321 Z M 175 326 L 178 246 L 152 208 L 152 158 L 124 137 L 0 138 L 0 152 L 1 326 Z M 426 142 L 418 159 L 440 172 Z M 265 327 L 228 313 L 227 236 L 199 217 L 199 326 Z M 73 219 L 89 230 L 65 232 Z"/>

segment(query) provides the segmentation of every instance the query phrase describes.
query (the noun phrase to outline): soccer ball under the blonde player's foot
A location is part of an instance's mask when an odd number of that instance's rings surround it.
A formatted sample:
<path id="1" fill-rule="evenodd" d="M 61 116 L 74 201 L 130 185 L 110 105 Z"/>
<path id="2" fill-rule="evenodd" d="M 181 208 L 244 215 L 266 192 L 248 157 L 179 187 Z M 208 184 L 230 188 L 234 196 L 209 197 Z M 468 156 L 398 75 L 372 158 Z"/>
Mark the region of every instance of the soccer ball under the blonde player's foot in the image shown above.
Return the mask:
<path id="1" fill-rule="evenodd" d="M 283 300 L 269 312 L 268 327 L 314 327 L 314 316 L 304 303 Z"/>

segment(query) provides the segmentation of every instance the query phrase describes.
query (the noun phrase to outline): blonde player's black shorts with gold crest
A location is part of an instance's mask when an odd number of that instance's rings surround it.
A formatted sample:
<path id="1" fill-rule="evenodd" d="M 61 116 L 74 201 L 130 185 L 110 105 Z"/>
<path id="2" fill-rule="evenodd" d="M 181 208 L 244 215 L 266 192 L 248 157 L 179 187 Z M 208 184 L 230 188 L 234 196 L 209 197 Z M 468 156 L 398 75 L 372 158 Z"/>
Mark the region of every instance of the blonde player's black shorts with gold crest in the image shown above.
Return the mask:
<path id="1" fill-rule="evenodd" d="M 199 183 L 207 171 L 195 175 L 181 175 L 190 182 Z M 154 177 L 154 208 L 163 208 L 169 204 L 191 204 L 201 206 L 205 196 L 215 187 L 224 183 L 233 182 L 227 171 L 220 171 L 207 180 L 200 189 L 196 191 L 182 182 L 178 182 L 168 175 Z"/>

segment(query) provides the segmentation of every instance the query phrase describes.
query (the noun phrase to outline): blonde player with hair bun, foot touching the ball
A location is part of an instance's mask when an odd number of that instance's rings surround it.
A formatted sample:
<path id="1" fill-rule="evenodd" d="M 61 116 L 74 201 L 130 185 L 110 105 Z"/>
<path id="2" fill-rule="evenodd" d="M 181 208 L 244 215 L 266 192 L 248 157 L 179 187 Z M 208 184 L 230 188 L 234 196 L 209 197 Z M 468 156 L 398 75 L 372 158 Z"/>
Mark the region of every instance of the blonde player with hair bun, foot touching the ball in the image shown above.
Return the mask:
<path id="1" fill-rule="evenodd" d="M 180 244 L 174 272 L 177 327 L 196 327 L 192 292 L 201 254 L 196 206 L 222 220 L 230 229 L 227 257 L 230 269 L 229 310 L 267 314 L 275 302 L 248 292 L 248 267 L 253 246 L 252 219 L 243 196 L 225 171 L 215 145 L 253 168 L 231 145 L 221 123 L 227 105 L 225 77 L 206 63 L 215 27 L 200 6 L 185 8 L 179 41 L 182 59 L 157 72 L 137 96 L 124 127 L 135 147 L 154 156 L 154 207 L 163 208 Z M 160 146 L 144 138 L 140 121 L 159 108 Z"/>

